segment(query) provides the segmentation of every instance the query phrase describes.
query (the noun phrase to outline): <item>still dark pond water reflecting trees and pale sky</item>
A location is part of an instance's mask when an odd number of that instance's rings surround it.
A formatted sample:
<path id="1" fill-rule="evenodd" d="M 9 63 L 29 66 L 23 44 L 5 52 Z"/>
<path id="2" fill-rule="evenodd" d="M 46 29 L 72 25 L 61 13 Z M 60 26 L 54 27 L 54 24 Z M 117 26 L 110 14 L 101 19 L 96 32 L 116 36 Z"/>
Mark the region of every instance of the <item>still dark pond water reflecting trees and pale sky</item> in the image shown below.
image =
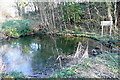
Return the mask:
<path id="1" fill-rule="evenodd" d="M 18 71 L 27 75 L 51 74 L 59 68 L 59 54 L 72 55 L 79 42 L 89 43 L 89 53 L 98 42 L 87 38 L 28 36 L 0 43 L 0 60 L 7 72 Z"/>

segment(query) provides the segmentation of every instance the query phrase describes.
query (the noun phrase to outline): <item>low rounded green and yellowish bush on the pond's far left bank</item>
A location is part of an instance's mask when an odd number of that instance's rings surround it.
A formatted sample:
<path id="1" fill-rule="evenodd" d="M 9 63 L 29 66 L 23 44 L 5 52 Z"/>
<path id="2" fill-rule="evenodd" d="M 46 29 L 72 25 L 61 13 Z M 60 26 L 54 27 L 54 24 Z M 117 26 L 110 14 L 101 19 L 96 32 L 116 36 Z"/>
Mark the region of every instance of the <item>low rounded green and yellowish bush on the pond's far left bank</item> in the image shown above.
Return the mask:
<path id="1" fill-rule="evenodd" d="M 29 24 L 29 20 L 11 20 L 3 23 L 2 29 L 10 37 L 19 37 L 32 32 Z"/>

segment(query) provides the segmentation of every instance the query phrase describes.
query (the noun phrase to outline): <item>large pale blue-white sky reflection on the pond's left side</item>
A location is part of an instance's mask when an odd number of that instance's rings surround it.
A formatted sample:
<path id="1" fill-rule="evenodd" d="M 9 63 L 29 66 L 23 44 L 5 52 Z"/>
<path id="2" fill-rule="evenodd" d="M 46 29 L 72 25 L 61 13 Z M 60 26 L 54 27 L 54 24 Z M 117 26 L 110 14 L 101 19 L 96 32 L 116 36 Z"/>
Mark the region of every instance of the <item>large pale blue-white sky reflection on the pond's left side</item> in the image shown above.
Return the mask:
<path id="1" fill-rule="evenodd" d="M 22 56 L 19 48 L 12 48 L 10 45 L 3 45 L 0 48 L 2 59 L 6 64 L 6 71 L 19 71 L 26 74 L 31 74 L 31 58 L 28 56 Z"/>

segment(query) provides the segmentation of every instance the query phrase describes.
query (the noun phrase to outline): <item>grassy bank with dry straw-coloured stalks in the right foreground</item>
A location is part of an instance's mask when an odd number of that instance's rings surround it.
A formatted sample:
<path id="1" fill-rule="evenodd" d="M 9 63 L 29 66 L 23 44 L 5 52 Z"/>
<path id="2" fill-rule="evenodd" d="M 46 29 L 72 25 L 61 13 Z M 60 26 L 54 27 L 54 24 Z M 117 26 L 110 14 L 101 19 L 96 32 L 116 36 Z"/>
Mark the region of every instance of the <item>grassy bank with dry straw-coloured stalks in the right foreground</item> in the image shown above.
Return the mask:
<path id="1" fill-rule="evenodd" d="M 119 55 L 104 52 L 104 54 L 88 59 L 72 60 L 75 63 L 67 64 L 66 67 L 56 70 L 53 78 L 120 78 Z"/>

